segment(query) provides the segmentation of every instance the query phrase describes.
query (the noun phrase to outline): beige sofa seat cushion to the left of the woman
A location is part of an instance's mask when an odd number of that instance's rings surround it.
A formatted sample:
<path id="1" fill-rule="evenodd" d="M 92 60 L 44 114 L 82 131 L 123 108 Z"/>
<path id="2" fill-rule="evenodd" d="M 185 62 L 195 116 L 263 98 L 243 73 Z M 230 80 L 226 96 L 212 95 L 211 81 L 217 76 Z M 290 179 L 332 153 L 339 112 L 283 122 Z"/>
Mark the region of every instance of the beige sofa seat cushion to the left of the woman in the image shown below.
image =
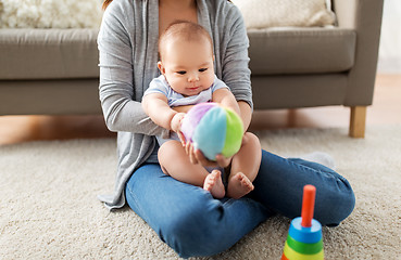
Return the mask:
<path id="1" fill-rule="evenodd" d="M 0 29 L 0 79 L 99 76 L 97 29 Z"/>

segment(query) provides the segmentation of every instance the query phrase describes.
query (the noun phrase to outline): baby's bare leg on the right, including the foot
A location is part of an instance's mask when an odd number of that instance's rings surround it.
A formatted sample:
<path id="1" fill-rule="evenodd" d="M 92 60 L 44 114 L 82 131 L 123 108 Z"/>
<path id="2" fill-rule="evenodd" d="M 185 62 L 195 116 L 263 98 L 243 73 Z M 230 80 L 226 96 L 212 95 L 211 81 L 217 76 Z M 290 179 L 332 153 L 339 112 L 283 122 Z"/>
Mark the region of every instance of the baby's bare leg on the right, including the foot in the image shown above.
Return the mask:
<path id="1" fill-rule="evenodd" d="M 256 178 L 261 159 L 262 148 L 258 136 L 246 132 L 241 148 L 231 160 L 227 186 L 228 197 L 240 198 L 253 191 L 252 182 Z"/>

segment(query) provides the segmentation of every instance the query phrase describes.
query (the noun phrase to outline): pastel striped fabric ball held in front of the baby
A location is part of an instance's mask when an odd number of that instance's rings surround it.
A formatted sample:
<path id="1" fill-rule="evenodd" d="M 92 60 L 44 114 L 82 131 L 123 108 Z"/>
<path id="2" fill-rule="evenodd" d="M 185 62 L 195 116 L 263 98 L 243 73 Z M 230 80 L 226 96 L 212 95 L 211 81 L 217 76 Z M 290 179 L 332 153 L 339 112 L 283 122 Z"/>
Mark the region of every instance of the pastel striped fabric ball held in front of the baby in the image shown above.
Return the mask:
<path id="1" fill-rule="evenodd" d="M 241 118 L 233 109 L 216 103 L 193 106 L 183 119 L 181 132 L 203 155 L 215 160 L 217 154 L 235 155 L 242 143 Z"/>

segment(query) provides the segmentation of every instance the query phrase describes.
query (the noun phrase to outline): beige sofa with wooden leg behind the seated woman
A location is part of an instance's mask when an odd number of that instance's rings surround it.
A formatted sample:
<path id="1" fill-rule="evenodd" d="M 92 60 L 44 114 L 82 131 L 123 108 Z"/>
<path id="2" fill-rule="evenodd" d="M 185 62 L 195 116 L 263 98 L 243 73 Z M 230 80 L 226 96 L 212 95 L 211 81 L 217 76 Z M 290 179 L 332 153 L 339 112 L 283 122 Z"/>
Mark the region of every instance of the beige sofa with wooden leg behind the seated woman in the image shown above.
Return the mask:
<path id="1" fill-rule="evenodd" d="M 255 109 L 351 107 L 364 136 L 384 0 L 333 0 L 334 28 L 250 29 Z M 100 114 L 97 30 L 0 29 L 0 115 Z"/>

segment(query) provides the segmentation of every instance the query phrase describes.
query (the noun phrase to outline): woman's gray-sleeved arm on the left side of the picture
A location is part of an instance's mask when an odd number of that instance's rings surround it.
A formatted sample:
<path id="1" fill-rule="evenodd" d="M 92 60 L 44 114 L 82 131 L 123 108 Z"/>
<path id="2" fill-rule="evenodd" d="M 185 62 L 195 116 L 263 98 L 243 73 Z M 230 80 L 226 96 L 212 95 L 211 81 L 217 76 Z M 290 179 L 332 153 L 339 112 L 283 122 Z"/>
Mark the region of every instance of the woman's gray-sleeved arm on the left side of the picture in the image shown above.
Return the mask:
<path id="1" fill-rule="evenodd" d="M 134 86 L 134 68 L 143 64 L 133 61 L 135 42 L 126 28 L 125 12 L 117 4 L 109 5 L 98 35 L 99 95 L 104 120 L 111 131 L 165 134 L 168 130 L 155 125 L 145 114 L 139 102 L 141 96 L 136 96 L 136 89 L 142 86 Z"/>

